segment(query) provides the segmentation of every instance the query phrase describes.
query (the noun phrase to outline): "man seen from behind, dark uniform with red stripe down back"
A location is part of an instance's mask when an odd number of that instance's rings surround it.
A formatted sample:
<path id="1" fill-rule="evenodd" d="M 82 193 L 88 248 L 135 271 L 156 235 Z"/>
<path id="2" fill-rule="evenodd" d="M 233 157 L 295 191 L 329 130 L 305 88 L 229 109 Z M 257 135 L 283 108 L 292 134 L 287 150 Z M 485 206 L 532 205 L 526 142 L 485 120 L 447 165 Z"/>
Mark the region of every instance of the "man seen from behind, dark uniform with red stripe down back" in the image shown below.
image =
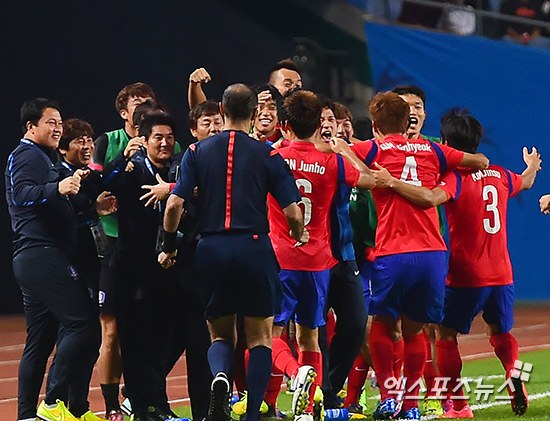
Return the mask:
<path id="1" fill-rule="evenodd" d="M 245 419 L 256 421 L 271 375 L 273 315 L 280 309 L 278 264 L 267 235 L 266 199 L 272 194 L 283 208 L 292 236 L 306 242 L 300 194 L 283 159 L 251 137 L 257 107 L 245 85 L 229 86 L 222 99 L 225 131 L 192 144 L 181 163 L 181 176 L 168 199 L 164 218 L 164 252 L 159 262 L 173 263 L 176 229 L 185 201 L 198 187 L 197 270 L 207 297 L 205 315 L 212 345 L 210 421 L 229 421 L 236 343 L 236 314 L 244 316 L 250 352 L 246 376 Z"/>

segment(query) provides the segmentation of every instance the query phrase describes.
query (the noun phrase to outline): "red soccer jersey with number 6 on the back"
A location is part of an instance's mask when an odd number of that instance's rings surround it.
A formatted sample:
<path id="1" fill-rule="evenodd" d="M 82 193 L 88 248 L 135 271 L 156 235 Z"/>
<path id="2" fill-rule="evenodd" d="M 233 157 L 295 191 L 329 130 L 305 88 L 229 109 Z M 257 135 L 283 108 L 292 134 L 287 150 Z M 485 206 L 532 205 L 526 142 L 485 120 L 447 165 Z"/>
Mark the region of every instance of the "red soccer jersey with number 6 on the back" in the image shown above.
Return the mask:
<path id="1" fill-rule="evenodd" d="M 329 214 L 339 184 L 355 187 L 359 171 L 340 155 L 319 152 L 313 143 L 295 141 L 277 150 L 289 165 L 302 195 L 304 225 L 309 243 L 294 247 L 288 222 L 273 197 L 269 196 L 270 237 L 281 269 L 320 271 L 337 260 L 330 247 Z"/>

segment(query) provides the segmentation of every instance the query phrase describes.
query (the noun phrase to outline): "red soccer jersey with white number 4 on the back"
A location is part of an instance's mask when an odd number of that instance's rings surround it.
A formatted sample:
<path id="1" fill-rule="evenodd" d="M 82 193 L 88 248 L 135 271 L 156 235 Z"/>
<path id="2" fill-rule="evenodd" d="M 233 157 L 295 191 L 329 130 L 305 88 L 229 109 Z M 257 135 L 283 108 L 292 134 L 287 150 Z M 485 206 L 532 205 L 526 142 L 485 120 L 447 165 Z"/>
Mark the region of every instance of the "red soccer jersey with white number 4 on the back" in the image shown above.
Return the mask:
<path id="1" fill-rule="evenodd" d="M 352 146 L 371 168 L 377 162 L 400 180 L 432 189 L 440 174 L 457 167 L 464 152 L 425 139 L 389 135 Z M 437 208 L 423 208 L 391 189 L 373 189 L 378 214 L 376 256 L 446 250 L 439 231 Z"/>

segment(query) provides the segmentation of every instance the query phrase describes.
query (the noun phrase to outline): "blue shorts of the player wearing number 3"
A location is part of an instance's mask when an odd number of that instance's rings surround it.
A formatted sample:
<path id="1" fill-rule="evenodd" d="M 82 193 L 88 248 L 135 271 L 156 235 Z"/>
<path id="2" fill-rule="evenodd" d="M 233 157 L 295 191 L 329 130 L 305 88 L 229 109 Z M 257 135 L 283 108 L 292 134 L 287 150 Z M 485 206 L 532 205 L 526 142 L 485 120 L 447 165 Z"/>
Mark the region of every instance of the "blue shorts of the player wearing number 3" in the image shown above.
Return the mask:
<path id="1" fill-rule="evenodd" d="M 514 284 L 479 288 L 445 288 L 445 318 L 442 325 L 462 334 L 470 331 L 483 310 L 483 320 L 508 333 L 514 325 Z"/>

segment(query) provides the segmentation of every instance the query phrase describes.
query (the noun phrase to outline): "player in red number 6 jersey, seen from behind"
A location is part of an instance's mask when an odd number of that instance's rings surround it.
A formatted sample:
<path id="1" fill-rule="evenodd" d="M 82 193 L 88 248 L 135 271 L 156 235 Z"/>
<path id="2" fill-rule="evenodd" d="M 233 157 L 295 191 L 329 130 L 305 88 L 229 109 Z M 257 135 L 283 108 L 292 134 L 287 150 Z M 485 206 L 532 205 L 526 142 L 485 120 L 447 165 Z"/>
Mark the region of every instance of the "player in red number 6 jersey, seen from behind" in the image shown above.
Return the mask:
<path id="1" fill-rule="evenodd" d="M 282 326 L 295 317 L 300 348 L 299 364 L 288 345 L 282 339 L 274 338 L 273 364 L 293 378 L 293 412 L 300 416 L 308 406 L 311 409 L 312 383 L 320 384 L 322 378 L 317 328 L 325 324 L 323 310 L 330 268 L 337 263 L 330 246 L 330 208 L 340 184 L 369 189 L 374 186 L 374 179 L 345 141 L 330 140 L 335 153 L 316 149 L 315 144 L 322 142 L 318 127 L 323 104 L 313 92 L 294 92 L 285 99 L 283 108 L 287 117 L 285 129 L 293 132 L 297 140 L 274 153 L 286 160 L 296 178 L 310 242 L 297 247 L 299 244 L 290 237 L 284 215 L 269 197 L 270 236 L 281 266 L 283 283 L 282 311 L 274 320 L 274 336 L 280 337 Z M 312 417 L 309 414 L 303 416 L 306 419 Z"/>

